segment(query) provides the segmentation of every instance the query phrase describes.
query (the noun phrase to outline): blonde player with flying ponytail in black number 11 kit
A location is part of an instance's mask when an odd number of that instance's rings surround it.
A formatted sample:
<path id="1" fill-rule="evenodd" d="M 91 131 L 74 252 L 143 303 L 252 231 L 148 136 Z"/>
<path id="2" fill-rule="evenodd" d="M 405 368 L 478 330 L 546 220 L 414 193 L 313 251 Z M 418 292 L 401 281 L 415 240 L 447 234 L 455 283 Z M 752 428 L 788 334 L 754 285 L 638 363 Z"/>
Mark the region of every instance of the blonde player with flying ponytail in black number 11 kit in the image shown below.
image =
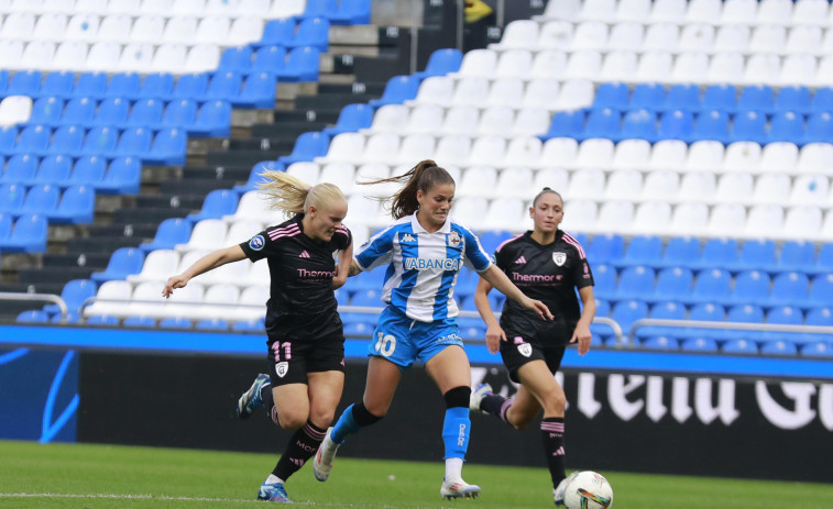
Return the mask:
<path id="1" fill-rule="evenodd" d="M 169 297 L 190 278 L 223 264 L 266 258 L 268 375 L 255 378 L 240 397 L 237 413 L 244 419 L 265 407 L 277 425 L 297 430 L 257 491 L 259 500 L 291 502 L 284 483 L 318 449 L 344 387 L 344 333 L 333 290 L 347 280 L 353 246 L 341 223 L 347 200 L 338 187 L 310 187 L 283 171 L 263 175 L 267 181 L 261 189 L 272 207 L 295 215 L 240 245 L 207 254 L 169 278 L 162 295 Z"/>

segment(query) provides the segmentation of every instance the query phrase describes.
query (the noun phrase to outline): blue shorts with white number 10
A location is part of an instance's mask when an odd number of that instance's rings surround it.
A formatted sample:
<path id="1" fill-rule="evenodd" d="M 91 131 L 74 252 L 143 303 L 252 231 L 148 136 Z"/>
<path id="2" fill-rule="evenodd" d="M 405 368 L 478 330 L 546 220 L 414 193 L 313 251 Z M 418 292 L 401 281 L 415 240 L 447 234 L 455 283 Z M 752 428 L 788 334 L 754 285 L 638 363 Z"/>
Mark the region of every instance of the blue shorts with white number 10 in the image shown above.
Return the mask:
<path id="1" fill-rule="evenodd" d="M 463 347 L 456 318 L 420 322 L 387 307 L 379 317 L 368 355 L 386 358 L 405 369 L 417 359 L 427 363 L 449 345 Z"/>

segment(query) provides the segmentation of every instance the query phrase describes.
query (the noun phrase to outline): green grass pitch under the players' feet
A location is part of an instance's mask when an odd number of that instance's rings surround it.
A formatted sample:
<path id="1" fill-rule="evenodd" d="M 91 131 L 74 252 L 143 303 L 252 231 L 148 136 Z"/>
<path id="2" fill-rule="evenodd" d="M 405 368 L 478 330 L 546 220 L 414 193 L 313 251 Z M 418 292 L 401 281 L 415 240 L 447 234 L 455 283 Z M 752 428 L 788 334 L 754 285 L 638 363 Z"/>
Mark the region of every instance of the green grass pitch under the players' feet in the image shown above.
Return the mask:
<path id="1" fill-rule="evenodd" d="M 3 508 L 257 507 L 257 486 L 276 455 L 0 441 Z M 774 465 L 777 468 L 777 465 Z M 833 484 L 603 472 L 617 509 L 833 508 Z M 468 464 L 475 500 L 442 500 L 441 463 L 339 457 L 327 483 L 305 466 L 287 483 L 297 506 L 332 508 L 552 507 L 544 468 Z"/>

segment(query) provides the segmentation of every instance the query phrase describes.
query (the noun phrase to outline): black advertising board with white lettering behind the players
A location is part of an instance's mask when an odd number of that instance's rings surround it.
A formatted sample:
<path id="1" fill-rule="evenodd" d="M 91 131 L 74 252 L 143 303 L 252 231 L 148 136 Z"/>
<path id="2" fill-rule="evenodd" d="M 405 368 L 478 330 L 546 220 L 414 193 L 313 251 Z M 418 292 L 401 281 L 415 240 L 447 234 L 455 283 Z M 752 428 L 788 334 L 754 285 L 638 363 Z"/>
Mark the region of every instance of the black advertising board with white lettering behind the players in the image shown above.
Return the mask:
<path id="1" fill-rule="evenodd" d="M 83 353 L 77 438 L 275 452 L 288 433 L 259 413 L 238 421 L 240 392 L 265 359 Z M 366 365 L 348 364 L 342 405 L 358 400 Z M 559 375 L 560 376 L 560 375 Z M 473 369 L 509 394 L 503 370 Z M 563 376 L 570 468 L 832 482 L 833 384 L 611 372 Z M 346 456 L 440 461 L 442 398 L 424 370 L 406 372 L 386 419 L 352 438 Z M 537 423 L 514 432 L 472 416 L 472 463 L 544 466 Z"/>

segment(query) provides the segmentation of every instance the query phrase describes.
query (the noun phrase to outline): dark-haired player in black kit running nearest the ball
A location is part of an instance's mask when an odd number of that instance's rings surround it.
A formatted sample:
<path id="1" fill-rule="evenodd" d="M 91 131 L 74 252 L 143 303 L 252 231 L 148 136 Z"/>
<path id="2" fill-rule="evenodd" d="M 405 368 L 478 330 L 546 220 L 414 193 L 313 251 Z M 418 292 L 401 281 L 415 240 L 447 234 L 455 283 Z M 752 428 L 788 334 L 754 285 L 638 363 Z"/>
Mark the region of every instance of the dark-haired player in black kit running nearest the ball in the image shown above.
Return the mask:
<path id="1" fill-rule="evenodd" d="M 584 250 L 574 237 L 558 229 L 565 217 L 561 195 L 545 187 L 533 200 L 529 215 L 535 229 L 501 244 L 495 263 L 527 296 L 552 310 L 555 320 L 542 322 L 509 300 L 497 322 L 489 305 L 492 284 L 481 278 L 474 303 L 486 322 L 486 347 L 501 352 L 509 378 L 520 383 L 513 399 L 492 394 L 483 384 L 471 397 L 471 409 L 491 413 L 518 430 L 526 428 L 544 408 L 544 453 L 552 477 L 556 505 L 563 502 L 565 391 L 555 373 L 567 343 L 579 344 L 579 355 L 590 350 L 590 322 L 595 316 L 593 274 Z M 584 309 L 579 310 L 579 289 Z"/>

